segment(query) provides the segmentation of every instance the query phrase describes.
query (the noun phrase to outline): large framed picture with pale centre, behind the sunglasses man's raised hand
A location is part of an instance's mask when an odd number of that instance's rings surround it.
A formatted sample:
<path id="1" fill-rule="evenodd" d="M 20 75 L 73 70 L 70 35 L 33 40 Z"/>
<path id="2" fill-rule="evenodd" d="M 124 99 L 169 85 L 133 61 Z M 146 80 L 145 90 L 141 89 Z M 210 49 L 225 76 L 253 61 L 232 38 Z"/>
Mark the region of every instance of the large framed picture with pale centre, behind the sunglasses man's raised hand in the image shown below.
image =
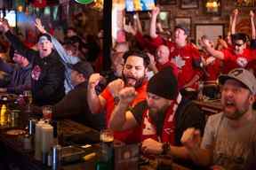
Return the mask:
<path id="1" fill-rule="evenodd" d="M 224 28 L 224 24 L 196 24 L 196 44 L 199 45 L 198 40 L 206 35 L 216 45 L 219 36 L 224 37 Z"/>

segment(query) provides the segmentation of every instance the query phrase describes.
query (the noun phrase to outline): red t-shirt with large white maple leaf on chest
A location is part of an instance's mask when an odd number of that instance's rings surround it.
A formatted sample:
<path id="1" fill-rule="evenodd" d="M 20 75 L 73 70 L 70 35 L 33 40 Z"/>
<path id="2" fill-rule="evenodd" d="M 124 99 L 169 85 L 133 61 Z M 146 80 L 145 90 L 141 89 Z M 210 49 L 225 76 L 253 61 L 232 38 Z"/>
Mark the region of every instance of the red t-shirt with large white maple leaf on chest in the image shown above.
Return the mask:
<path id="1" fill-rule="evenodd" d="M 182 87 L 193 79 L 198 74 L 200 77 L 203 74 L 199 68 L 195 67 L 197 62 L 198 66 L 201 61 L 199 51 L 191 44 L 179 48 L 174 42 L 164 42 L 163 38 L 157 36 L 154 39 L 154 44 L 158 46 L 165 44 L 170 49 L 170 60 L 178 67 L 178 82 L 179 87 Z M 198 83 L 194 83 L 192 89 L 197 89 Z"/>

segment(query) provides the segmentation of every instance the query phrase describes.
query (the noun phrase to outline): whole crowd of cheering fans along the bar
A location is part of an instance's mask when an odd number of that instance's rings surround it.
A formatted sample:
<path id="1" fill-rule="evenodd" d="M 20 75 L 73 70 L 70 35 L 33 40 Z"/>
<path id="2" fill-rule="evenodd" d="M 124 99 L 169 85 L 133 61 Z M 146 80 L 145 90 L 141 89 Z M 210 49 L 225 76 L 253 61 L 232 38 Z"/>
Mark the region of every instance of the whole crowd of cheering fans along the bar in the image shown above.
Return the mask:
<path id="1" fill-rule="evenodd" d="M 255 169 L 254 13 L 249 15 L 251 38 L 236 33 L 236 9 L 227 37 L 214 45 L 204 35 L 199 47 L 182 24 L 172 36 L 165 34 L 159 12 L 158 7 L 151 12 L 149 35 L 142 32 L 138 15 L 124 25 L 127 41 L 116 42 L 108 71 L 101 69 L 101 31 L 96 39 L 84 40 L 69 27 L 59 42 L 36 19 L 35 50 L 2 19 L 0 28 L 17 65 L 0 60 L 0 70 L 10 74 L 0 81 L 0 91 L 20 95 L 30 89 L 35 106 L 53 106 L 53 119 L 110 128 L 116 140 L 141 143 L 145 155 L 172 155 L 194 169 Z M 202 82 L 204 95 L 220 97 L 223 107 L 207 120 L 192 101 Z"/>

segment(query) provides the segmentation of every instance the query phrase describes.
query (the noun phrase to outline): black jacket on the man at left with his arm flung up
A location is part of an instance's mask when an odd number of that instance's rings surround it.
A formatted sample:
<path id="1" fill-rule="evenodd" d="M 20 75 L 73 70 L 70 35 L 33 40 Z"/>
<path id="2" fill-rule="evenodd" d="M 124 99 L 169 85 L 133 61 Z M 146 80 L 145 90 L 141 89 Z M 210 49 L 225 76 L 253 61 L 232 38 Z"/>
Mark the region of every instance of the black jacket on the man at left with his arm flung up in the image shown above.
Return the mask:
<path id="1" fill-rule="evenodd" d="M 11 31 L 6 32 L 5 35 L 12 43 L 14 49 L 18 50 L 22 56 L 28 58 L 32 65 L 32 74 L 36 68 L 40 70 L 38 79 L 31 79 L 33 103 L 45 105 L 59 102 L 65 96 L 65 67 L 60 62 L 59 54 L 52 50 L 48 57 L 40 58 L 38 51 L 25 47 L 19 38 L 12 35 Z"/>

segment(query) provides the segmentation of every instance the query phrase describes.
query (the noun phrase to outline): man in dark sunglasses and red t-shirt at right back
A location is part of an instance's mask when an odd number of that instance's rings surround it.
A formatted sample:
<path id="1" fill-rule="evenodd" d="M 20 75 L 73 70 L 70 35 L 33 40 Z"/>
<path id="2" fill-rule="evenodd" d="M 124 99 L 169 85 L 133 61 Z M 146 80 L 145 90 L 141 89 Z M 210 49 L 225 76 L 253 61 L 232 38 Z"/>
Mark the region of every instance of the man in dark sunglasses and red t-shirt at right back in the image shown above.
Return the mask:
<path id="1" fill-rule="evenodd" d="M 214 50 L 209 40 L 202 39 L 202 46 L 214 58 L 219 58 L 224 61 L 223 73 L 228 73 L 230 70 L 241 67 L 245 68 L 249 62 L 256 58 L 256 50 L 246 48 L 246 35 L 243 33 L 236 33 L 232 35 L 233 48 L 224 50 Z"/>

